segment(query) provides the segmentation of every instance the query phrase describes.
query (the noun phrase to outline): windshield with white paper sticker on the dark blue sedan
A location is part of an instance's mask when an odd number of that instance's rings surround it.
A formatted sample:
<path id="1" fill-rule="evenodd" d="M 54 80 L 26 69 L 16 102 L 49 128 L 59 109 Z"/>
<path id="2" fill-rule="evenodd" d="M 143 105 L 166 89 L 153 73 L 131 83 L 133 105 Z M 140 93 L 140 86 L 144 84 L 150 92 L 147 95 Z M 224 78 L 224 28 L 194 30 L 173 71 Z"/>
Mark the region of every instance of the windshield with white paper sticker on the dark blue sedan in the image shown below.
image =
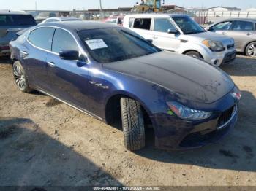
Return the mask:
<path id="1" fill-rule="evenodd" d="M 103 28 L 78 32 L 89 54 L 99 63 L 110 63 L 159 52 L 146 39 L 125 28 Z"/>

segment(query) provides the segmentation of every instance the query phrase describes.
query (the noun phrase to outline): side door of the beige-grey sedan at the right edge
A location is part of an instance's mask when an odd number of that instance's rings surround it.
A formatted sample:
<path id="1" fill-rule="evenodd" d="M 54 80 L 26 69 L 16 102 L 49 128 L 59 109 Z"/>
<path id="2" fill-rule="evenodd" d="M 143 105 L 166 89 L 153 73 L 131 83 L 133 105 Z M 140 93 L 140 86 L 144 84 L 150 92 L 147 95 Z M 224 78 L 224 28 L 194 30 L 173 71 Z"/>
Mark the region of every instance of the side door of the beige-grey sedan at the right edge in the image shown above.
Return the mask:
<path id="1" fill-rule="evenodd" d="M 236 20 L 230 28 L 229 36 L 236 42 L 236 49 L 244 52 L 246 44 L 255 41 L 255 24 L 249 21 Z"/>

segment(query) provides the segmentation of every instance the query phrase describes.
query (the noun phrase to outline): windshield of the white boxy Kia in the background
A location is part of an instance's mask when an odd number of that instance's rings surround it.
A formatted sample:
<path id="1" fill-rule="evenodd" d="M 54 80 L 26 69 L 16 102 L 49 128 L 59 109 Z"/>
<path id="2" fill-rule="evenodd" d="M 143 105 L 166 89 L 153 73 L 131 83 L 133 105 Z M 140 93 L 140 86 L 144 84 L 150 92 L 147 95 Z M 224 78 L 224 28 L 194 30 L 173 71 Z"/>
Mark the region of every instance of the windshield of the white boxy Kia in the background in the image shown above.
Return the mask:
<path id="1" fill-rule="evenodd" d="M 184 34 L 203 33 L 205 30 L 198 25 L 191 17 L 173 17 L 173 20 L 181 28 Z"/>

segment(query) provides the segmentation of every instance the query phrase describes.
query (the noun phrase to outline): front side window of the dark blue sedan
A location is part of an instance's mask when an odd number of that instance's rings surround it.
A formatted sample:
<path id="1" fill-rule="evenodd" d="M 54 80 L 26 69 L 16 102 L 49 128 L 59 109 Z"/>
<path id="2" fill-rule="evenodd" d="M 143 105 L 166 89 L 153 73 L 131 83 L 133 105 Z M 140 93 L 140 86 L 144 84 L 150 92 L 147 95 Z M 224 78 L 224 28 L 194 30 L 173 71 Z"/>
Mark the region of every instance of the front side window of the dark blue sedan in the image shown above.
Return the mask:
<path id="1" fill-rule="evenodd" d="M 59 53 L 63 50 L 77 50 L 79 51 L 78 44 L 69 32 L 57 28 L 53 36 L 52 51 Z"/>

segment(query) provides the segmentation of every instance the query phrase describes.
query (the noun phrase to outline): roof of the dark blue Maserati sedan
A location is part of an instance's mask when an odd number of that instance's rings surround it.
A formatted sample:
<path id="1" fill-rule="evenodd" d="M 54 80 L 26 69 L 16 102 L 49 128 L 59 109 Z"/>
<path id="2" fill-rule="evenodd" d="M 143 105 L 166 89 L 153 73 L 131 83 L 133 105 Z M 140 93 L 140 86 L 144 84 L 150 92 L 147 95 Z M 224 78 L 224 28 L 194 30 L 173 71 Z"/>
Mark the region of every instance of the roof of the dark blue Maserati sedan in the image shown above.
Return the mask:
<path id="1" fill-rule="evenodd" d="M 55 23 L 43 23 L 42 26 L 56 26 L 60 28 L 67 29 L 69 31 L 83 31 L 90 29 L 99 29 L 99 28 L 121 28 L 110 23 L 103 23 L 99 21 L 66 21 L 66 22 L 55 22 Z"/>

